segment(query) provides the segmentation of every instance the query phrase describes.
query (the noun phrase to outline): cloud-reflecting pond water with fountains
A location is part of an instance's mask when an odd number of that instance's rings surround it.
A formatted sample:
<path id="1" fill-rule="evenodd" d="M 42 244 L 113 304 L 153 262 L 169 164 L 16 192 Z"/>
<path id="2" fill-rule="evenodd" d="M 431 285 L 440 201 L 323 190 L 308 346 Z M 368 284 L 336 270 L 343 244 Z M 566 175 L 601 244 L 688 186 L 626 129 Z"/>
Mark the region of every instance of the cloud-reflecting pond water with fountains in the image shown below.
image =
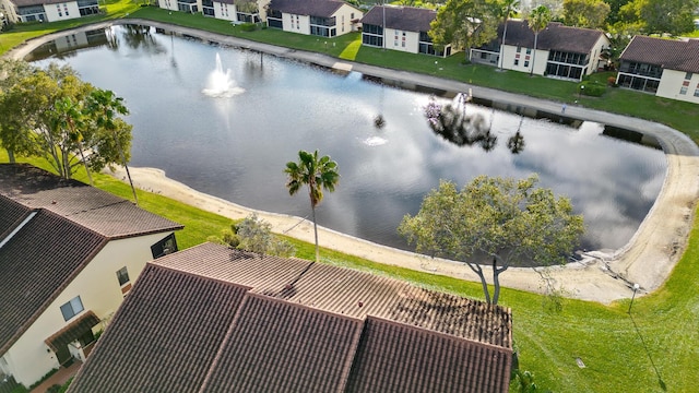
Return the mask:
<path id="1" fill-rule="evenodd" d="M 217 57 L 217 76 L 229 83 L 225 94 L 212 93 Z M 666 170 L 662 151 L 612 138 L 604 124 L 568 126 L 472 103 L 466 112 L 478 115 L 497 142 L 460 146 L 429 127 L 429 93 L 150 27 L 62 37 L 27 60 L 70 64 L 126 99 L 130 165 L 164 169 L 248 207 L 310 216 L 307 194 L 289 196 L 283 170 L 299 150 L 330 155 L 341 179 L 318 207 L 319 225 L 402 249 L 410 247 L 395 228 L 440 179 L 461 187 L 481 174 L 533 172 L 584 215 L 582 249 L 616 249 L 638 229 Z M 453 96 L 434 103 L 447 105 Z M 518 130 L 524 144 L 512 153 L 507 142 Z"/>

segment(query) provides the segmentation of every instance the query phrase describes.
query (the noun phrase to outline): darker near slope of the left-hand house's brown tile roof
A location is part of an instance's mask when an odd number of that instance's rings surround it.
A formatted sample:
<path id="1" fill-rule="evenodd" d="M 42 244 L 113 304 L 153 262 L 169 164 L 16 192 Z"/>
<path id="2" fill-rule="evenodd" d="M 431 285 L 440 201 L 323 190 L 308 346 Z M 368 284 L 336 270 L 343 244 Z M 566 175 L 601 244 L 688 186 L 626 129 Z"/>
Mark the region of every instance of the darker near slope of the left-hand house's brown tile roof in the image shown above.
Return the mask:
<path id="1" fill-rule="evenodd" d="M 0 247 L 0 354 L 106 242 L 92 230 L 39 210 Z"/>

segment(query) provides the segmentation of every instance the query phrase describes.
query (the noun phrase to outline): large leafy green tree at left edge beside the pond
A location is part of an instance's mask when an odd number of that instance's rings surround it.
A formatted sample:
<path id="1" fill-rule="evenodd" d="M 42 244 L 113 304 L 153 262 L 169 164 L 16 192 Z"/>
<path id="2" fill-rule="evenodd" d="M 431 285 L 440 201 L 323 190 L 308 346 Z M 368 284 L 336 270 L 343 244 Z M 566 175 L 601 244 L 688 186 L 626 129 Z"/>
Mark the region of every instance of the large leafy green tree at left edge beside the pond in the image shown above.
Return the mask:
<path id="1" fill-rule="evenodd" d="M 16 154 L 45 157 L 67 179 L 81 164 L 102 170 L 118 163 L 117 144 L 130 148 L 131 126 L 114 119 L 114 129 L 105 129 L 98 119 L 104 114 L 87 108 L 94 91 L 70 67 L 54 63 L 23 78 L 0 102 L 2 110 L 11 114 L 11 127 L 3 127 L 3 145 Z"/>

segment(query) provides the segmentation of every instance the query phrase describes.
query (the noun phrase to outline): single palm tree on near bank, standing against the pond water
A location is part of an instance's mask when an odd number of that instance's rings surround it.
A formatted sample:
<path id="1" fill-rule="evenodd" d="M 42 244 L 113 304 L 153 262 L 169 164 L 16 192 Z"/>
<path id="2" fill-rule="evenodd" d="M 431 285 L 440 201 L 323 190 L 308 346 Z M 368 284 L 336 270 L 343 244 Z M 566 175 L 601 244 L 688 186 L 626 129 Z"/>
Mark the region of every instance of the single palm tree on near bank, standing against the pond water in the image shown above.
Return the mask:
<path id="1" fill-rule="evenodd" d="M 330 156 L 318 157 L 318 151 L 308 153 L 298 152 L 298 163 L 286 163 L 284 172 L 288 177 L 286 188 L 289 195 L 294 195 L 298 190 L 308 186 L 310 196 L 310 209 L 313 217 L 313 233 L 316 235 L 316 262 L 320 260 L 318 250 L 318 225 L 316 224 L 316 206 L 323 200 L 323 189 L 333 192 L 340 180 L 337 163 L 330 159 Z"/>

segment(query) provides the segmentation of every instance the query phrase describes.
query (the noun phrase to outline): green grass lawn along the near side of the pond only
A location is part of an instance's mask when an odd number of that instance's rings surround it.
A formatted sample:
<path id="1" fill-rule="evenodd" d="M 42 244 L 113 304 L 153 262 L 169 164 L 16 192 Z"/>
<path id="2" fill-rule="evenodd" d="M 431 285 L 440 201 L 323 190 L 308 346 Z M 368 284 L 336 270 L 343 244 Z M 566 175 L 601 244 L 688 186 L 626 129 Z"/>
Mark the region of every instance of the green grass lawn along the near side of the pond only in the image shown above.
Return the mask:
<path id="1" fill-rule="evenodd" d="M 0 162 L 7 162 L 4 152 Z M 43 159 L 29 159 L 50 169 Z M 94 174 L 95 186 L 131 199 L 130 188 L 109 176 Z M 76 178 L 87 181 L 84 172 Z M 177 233 L 181 249 L 218 235 L 228 218 L 139 190 L 140 206 L 185 225 Z M 288 238 L 297 257 L 313 260 L 313 245 Z M 322 245 L 322 238 L 320 239 Z M 322 249 L 323 263 L 396 277 L 430 289 L 483 299 L 479 284 L 388 266 Z M 694 368 L 699 359 L 699 226 L 689 248 L 667 283 L 639 297 L 627 313 L 629 300 L 612 306 L 554 299 L 503 288 L 501 305 L 513 311 L 513 337 L 520 368 L 532 371 L 540 388 L 556 392 L 688 392 L 699 385 Z M 507 274 L 507 273 L 505 273 Z M 573 288 L 569 288 L 572 290 Z M 577 364 L 580 358 L 585 368 Z M 513 390 L 512 390 L 513 391 Z"/>

